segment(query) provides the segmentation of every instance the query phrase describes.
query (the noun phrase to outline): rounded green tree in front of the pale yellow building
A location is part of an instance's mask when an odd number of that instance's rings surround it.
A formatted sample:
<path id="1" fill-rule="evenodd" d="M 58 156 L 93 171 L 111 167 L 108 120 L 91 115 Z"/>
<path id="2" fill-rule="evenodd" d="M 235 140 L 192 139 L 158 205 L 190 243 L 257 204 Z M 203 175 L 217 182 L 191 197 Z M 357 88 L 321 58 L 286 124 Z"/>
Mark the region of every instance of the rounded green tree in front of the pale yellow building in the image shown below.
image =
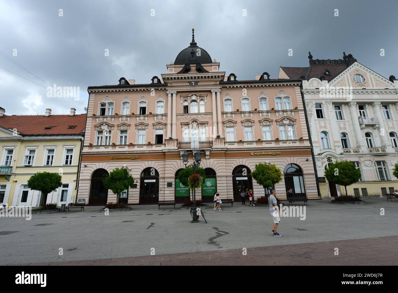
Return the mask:
<path id="1" fill-rule="evenodd" d="M 39 190 L 44 195 L 43 206 L 47 202 L 47 195 L 57 190 L 62 185 L 62 176 L 58 173 L 37 172 L 27 181 L 27 186 L 32 190 Z"/>

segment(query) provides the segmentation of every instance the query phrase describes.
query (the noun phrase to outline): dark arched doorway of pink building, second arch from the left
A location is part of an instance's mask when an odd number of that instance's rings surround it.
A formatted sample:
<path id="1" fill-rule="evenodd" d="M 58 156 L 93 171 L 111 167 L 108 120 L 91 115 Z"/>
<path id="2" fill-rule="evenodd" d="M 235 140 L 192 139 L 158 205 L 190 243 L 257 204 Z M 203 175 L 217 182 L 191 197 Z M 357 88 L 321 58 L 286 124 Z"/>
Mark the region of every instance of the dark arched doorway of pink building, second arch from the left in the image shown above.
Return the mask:
<path id="1" fill-rule="evenodd" d="M 141 173 L 139 203 L 150 204 L 158 201 L 159 172 L 153 167 L 145 168 Z"/>

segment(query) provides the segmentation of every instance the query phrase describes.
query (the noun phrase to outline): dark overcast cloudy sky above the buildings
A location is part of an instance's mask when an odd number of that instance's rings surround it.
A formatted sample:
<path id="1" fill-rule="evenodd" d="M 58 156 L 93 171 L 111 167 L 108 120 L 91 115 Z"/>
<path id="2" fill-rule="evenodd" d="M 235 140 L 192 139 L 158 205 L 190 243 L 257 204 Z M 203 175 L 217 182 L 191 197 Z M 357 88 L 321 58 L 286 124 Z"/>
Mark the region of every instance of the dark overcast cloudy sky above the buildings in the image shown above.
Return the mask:
<path id="1" fill-rule="evenodd" d="M 84 113 L 88 86 L 121 76 L 148 83 L 166 73 L 189 45 L 192 25 L 197 44 L 238 80 L 308 66 L 308 51 L 314 59 L 345 51 L 398 77 L 397 12 L 396 0 L 0 0 L 0 107 L 8 115 Z M 80 100 L 47 97 L 49 84 L 80 87 Z"/>

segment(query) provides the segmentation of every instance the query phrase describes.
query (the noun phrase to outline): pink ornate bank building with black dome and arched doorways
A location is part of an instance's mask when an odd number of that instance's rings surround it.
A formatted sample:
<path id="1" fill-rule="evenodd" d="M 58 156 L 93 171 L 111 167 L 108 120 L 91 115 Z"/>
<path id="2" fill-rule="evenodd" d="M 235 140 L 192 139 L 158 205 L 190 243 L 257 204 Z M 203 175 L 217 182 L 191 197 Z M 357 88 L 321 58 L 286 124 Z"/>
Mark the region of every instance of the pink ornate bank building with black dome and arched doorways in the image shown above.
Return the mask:
<path id="1" fill-rule="evenodd" d="M 121 201 L 184 201 L 189 192 L 176 179 L 184 168 L 181 153 L 203 152 L 207 180 L 197 197 L 240 201 L 240 189 L 264 195 L 250 176 L 256 163 L 276 164 L 283 181 L 275 186 L 318 199 L 314 164 L 300 92 L 301 80 L 253 80 L 225 75 L 220 63 L 198 47 L 194 36 L 161 78 L 148 84 L 120 78 L 116 85 L 90 86 L 78 199 L 102 205 L 115 201 L 102 180 L 115 168 L 127 168 L 137 186 Z"/>

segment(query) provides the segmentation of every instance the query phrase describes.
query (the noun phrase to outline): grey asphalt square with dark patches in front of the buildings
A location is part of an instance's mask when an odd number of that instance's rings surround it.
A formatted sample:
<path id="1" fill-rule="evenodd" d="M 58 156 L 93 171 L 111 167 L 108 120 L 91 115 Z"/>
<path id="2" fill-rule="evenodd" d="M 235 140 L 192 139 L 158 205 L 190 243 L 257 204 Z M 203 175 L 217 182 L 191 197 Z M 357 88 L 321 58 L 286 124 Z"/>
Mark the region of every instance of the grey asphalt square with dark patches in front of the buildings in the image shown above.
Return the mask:
<path id="1" fill-rule="evenodd" d="M 364 200 L 363 205 L 310 201 L 304 221 L 281 218 L 282 237 L 271 234 L 268 207 L 238 202 L 234 207 L 222 205 L 222 211 L 205 209 L 207 224 L 190 223 L 189 210 L 180 210 L 179 205 L 160 210 L 136 205 L 109 216 L 100 207 L 86 207 L 83 212 L 32 215 L 30 221 L 0 217 L 0 265 L 147 256 L 152 248 L 155 254 L 172 254 L 398 235 L 398 201 Z M 380 208 L 385 215 L 380 215 Z"/>

